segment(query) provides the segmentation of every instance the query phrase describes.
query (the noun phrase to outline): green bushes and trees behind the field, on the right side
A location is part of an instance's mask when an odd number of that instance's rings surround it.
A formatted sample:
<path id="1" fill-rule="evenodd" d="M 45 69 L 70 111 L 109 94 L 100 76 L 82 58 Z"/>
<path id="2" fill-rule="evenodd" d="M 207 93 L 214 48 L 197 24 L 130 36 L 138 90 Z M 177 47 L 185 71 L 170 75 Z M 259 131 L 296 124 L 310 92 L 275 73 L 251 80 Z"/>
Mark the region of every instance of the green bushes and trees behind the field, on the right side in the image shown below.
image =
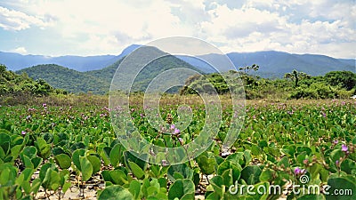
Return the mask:
<path id="1" fill-rule="evenodd" d="M 224 78 L 237 82 L 237 73 L 239 73 L 239 77 L 245 85 L 248 100 L 261 98 L 333 99 L 350 98 L 352 94 L 356 94 L 356 74 L 351 71 L 332 71 L 325 76 L 309 76 L 294 70 L 287 73 L 284 79 L 267 79 L 248 75 L 246 69 L 249 68 L 240 68 L 239 72 L 230 71 L 224 73 L 223 76 L 213 73 L 190 77 L 182 88 L 181 94 L 202 90 L 201 88 L 204 88 L 206 80 L 214 85 L 218 93 L 229 92 L 229 86 Z M 234 85 L 230 86 L 234 87 Z"/>

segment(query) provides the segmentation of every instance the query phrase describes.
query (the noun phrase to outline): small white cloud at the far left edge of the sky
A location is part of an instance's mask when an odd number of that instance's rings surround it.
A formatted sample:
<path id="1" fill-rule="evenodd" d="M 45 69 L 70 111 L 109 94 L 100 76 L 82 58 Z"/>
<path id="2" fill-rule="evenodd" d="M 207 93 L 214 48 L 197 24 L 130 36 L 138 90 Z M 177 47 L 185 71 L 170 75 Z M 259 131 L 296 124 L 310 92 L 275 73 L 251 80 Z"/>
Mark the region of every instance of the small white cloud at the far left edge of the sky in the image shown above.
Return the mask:
<path id="1" fill-rule="evenodd" d="M 22 30 L 30 28 L 32 25 L 44 27 L 45 23 L 35 16 L 0 6 L 0 28 L 4 28 L 5 30 Z"/>

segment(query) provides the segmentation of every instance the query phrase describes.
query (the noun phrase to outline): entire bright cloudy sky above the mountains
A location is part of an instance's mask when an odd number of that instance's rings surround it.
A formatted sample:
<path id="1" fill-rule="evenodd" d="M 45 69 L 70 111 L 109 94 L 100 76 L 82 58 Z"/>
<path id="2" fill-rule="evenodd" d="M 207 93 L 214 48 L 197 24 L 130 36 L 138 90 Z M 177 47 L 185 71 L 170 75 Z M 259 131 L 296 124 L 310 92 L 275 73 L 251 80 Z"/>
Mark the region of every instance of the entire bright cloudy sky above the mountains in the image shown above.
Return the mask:
<path id="1" fill-rule="evenodd" d="M 356 57 L 355 0 L 0 0 L 0 51 L 119 54 L 193 36 L 223 52 Z"/>

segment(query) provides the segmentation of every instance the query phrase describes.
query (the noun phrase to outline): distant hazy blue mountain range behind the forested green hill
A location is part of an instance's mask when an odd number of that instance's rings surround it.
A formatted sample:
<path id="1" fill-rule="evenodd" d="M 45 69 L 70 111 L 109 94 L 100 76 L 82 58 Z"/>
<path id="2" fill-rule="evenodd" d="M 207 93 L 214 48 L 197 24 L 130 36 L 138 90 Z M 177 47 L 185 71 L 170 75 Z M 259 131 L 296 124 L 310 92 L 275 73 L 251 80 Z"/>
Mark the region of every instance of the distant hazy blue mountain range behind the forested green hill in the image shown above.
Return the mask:
<path id="1" fill-rule="evenodd" d="M 60 56 L 49 57 L 44 55 L 21 55 L 14 52 L 0 52 L 0 63 L 8 69 L 17 71 L 41 64 L 56 64 L 80 72 L 98 70 L 112 65 L 125 55 L 140 47 L 132 44 L 118 55 L 98 56 Z M 202 58 L 213 58 L 214 54 L 203 55 Z M 288 52 L 230 52 L 227 56 L 236 68 L 257 64 L 260 66 L 257 74 L 264 77 L 281 77 L 296 69 L 312 76 L 320 76 L 335 70 L 355 71 L 355 59 L 336 59 L 317 54 L 295 54 Z M 190 65 L 201 69 L 203 72 L 214 72 L 214 68 L 206 62 L 187 56 L 177 56 Z"/>

